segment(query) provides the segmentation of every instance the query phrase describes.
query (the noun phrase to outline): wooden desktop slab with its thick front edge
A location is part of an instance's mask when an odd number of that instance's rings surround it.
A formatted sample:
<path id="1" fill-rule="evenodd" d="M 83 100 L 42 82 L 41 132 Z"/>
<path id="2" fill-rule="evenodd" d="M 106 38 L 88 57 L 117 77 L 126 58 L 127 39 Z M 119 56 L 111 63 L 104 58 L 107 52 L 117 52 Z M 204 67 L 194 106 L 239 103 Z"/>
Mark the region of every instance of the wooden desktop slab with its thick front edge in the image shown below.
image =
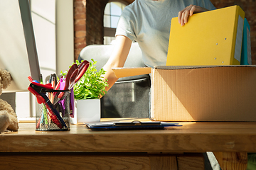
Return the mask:
<path id="1" fill-rule="evenodd" d="M 256 152 L 255 122 L 180 123 L 166 130 L 40 132 L 20 123 L 18 132 L 0 134 L 0 152 Z"/>

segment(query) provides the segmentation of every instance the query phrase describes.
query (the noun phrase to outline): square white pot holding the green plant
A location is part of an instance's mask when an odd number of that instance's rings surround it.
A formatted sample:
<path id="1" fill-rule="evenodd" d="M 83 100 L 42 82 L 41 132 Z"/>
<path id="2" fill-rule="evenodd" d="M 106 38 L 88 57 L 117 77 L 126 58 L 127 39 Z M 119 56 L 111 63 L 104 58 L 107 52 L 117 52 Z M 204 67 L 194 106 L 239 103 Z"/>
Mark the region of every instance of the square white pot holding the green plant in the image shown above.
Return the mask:
<path id="1" fill-rule="evenodd" d="M 70 123 L 100 122 L 100 99 L 75 100 L 74 118 Z"/>

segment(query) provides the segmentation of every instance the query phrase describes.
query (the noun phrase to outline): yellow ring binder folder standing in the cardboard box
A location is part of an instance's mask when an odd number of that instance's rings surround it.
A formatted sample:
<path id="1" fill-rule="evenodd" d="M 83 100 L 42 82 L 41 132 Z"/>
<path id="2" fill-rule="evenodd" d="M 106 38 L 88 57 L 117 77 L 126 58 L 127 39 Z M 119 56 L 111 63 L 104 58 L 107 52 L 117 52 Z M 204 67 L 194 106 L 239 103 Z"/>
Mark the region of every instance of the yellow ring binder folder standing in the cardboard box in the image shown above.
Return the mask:
<path id="1" fill-rule="evenodd" d="M 240 65 L 245 12 L 230 6 L 172 18 L 166 65 Z"/>

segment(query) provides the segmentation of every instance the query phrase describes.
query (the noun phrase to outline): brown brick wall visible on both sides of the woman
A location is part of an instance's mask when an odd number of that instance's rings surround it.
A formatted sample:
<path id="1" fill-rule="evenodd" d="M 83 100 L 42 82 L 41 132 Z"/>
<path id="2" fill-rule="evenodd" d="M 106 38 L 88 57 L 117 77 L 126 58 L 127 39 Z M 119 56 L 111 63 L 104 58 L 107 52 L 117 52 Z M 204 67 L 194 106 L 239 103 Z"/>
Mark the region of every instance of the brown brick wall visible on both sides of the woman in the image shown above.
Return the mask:
<path id="1" fill-rule="evenodd" d="M 103 14 L 108 0 L 74 0 L 75 59 L 86 45 L 103 44 Z M 130 2 L 132 0 L 126 0 Z M 250 24 L 252 64 L 256 64 L 256 1 L 210 0 L 216 8 L 239 5 Z M 225 16 L 223 16 L 225 17 Z"/>

